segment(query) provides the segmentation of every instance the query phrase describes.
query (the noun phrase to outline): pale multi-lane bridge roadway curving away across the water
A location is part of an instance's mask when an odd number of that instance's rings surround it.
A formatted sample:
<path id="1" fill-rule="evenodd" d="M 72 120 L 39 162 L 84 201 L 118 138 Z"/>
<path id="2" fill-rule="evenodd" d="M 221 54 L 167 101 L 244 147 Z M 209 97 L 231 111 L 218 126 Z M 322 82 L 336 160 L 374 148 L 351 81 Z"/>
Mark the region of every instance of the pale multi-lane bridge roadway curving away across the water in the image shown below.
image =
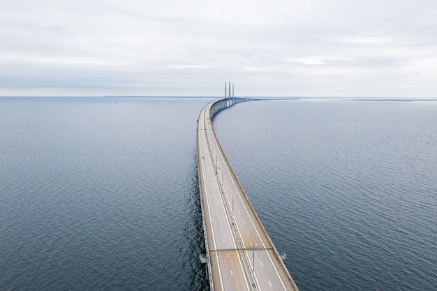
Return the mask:
<path id="1" fill-rule="evenodd" d="M 228 101 L 221 100 L 221 107 L 223 102 L 226 107 Z M 217 101 L 205 105 L 198 119 L 198 170 L 210 288 L 298 291 L 218 143 L 212 127 L 214 106 Z"/>

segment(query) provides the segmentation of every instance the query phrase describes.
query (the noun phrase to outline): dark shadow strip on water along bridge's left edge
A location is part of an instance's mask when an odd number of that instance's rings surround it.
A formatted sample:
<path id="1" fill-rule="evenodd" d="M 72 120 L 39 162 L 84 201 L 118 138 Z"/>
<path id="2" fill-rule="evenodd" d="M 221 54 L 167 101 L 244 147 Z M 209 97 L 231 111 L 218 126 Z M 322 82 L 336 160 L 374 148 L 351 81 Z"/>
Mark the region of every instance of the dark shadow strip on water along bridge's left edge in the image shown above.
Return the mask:
<path id="1" fill-rule="evenodd" d="M 184 240 L 188 244 L 183 260 L 184 273 L 187 276 L 187 285 L 184 286 L 184 290 L 209 290 L 205 265 L 200 262 L 199 258 L 201 253 L 205 253 L 205 238 L 199 194 L 197 145 L 193 148 L 190 167 L 190 191 L 185 194 L 184 199 L 186 202 L 184 212 L 187 214 Z"/>

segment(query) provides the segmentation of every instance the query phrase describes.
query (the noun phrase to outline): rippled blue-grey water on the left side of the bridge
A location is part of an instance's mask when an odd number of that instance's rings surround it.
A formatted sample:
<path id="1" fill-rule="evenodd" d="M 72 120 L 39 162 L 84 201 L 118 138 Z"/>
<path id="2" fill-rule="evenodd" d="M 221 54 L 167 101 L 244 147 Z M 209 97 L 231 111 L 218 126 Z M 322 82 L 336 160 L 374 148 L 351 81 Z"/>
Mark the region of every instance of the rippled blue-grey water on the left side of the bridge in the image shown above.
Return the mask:
<path id="1" fill-rule="evenodd" d="M 207 290 L 205 98 L 0 99 L 0 290 Z"/>

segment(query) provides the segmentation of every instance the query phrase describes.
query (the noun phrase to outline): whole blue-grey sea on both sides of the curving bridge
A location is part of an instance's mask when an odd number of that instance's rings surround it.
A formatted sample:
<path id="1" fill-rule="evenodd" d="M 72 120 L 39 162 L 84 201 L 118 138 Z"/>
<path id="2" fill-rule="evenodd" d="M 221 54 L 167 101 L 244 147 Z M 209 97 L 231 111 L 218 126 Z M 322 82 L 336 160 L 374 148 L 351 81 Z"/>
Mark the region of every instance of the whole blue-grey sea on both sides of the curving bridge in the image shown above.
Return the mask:
<path id="1" fill-rule="evenodd" d="M 214 99 L 0 98 L 0 291 L 209 290 Z M 214 128 L 299 290 L 437 290 L 436 100 L 259 100 Z"/>

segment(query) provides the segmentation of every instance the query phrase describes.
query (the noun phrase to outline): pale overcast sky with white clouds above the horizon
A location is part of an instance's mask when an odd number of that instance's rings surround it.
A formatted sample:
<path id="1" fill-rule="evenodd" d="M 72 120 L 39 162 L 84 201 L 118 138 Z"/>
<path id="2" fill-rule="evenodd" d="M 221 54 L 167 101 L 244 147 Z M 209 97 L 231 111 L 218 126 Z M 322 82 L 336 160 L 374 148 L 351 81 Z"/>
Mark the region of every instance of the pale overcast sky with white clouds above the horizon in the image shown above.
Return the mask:
<path id="1" fill-rule="evenodd" d="M 437 97 L 436 0 L 1 0 L 0 96 Z"/>

